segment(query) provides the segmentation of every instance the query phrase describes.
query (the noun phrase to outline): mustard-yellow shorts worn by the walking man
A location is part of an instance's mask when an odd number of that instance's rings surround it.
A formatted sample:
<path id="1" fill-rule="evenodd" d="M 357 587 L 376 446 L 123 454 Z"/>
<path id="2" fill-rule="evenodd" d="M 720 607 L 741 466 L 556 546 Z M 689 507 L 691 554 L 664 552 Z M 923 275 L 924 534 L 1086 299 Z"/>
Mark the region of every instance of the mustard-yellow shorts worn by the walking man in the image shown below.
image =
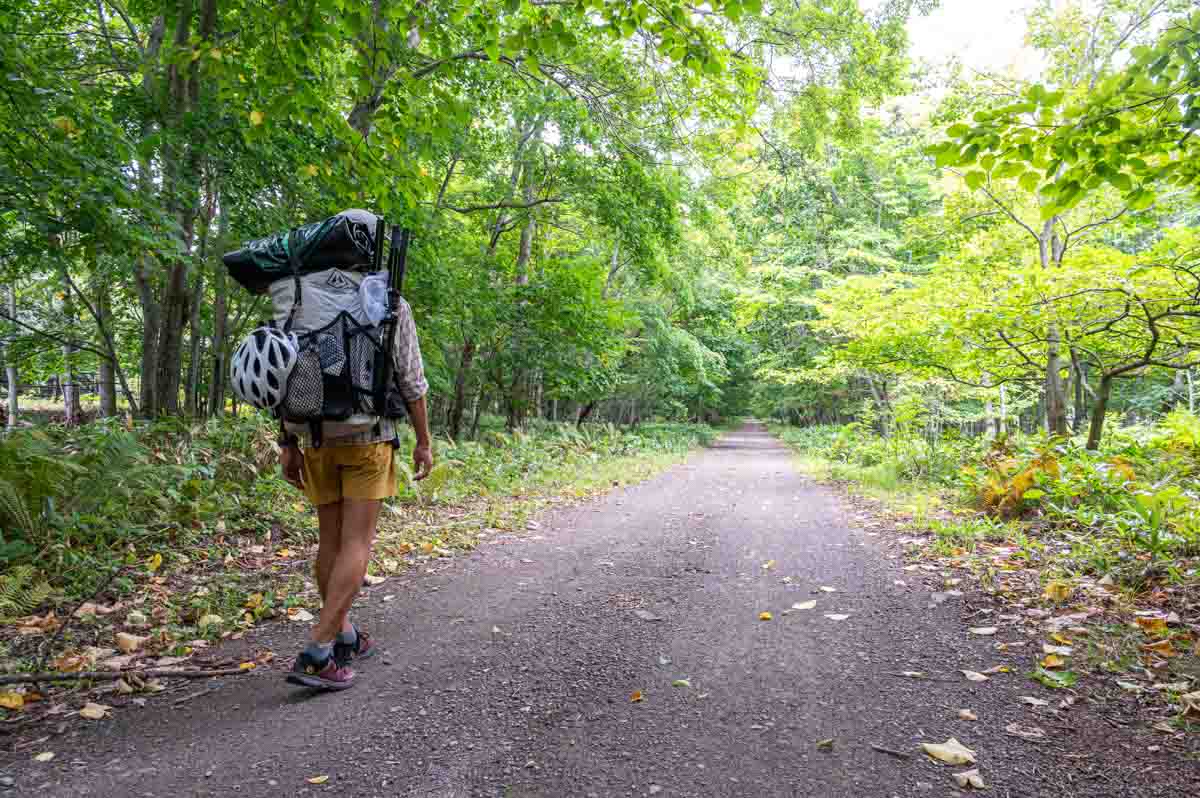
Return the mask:
<path id="1" fill-rule="evenodd" d="M 322 446 L 304 452 L 304 492 L 316 504 L 396 496 L 395 448 L 389 442 Z"/>

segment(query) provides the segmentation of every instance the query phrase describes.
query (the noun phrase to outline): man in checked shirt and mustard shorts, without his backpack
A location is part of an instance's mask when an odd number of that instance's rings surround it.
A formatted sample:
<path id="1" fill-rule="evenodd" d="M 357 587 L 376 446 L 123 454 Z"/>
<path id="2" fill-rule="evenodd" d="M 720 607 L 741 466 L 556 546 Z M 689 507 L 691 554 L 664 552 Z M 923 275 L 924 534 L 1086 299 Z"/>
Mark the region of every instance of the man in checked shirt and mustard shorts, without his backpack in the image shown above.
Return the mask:
<path id="1" fill-rule="evenodd" d="M 416 432 L 415 479 L 433 467 L 426 416 L 425 368 L 412 308 L 401 300 L 394 355 L 400 391 Z M 308 644 L 296 656 L 287 680 L 318 690 L 344 690 L 354 684 L 350 662 L 371 656 L 370 635 L 350 623 L 350 605 L 371 560 L 383 499 L 396 494 L 395 424 L 378 419 L 368 426 L 322 422 L 320 446 L 312 445 L 307 425 L 284 424 L 280 440 L 283 478 L 317 506 L 320 541 L 317 586 L 320 618 Z"/>

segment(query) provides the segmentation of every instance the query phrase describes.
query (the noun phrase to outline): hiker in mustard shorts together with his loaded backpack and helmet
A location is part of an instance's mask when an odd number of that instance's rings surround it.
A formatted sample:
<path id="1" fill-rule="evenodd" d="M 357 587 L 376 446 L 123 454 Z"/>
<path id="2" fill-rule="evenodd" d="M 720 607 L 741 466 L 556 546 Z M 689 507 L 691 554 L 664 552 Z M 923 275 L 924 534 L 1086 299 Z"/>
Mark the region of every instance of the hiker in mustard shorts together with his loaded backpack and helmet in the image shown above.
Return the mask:
<path id="1" fill-rule="evenodd" d="M 385 233 L 384 220 L 352 210 L 224 257 L 242 286 L 270 293 L 275 310 L 238 348 L 232 383 L 280 418 L 283 478 L 317 508 L 320 617 L 287 680 L 318 690 L 352 686 L 350 664 L 376 649 L 349 611 L 380 506 L 396 493 L 403 416 L 416 433 L 414 479 L 433 467 L 428 385 L 412 310 L 400 295 L 408 234 L 392 228 L 384 272 Z"/>

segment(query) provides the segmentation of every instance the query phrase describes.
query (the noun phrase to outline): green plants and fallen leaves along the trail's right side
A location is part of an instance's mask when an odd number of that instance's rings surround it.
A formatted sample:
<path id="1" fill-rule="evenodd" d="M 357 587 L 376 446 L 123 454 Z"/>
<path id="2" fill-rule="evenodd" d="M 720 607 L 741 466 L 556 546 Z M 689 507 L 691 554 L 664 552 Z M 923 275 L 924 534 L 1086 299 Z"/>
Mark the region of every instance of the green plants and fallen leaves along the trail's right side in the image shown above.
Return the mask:
<path id="1" fill-rule="evenodd" d="M 1033 655 L 1028 676 L 1073 688 L 1106 673 L 1166 706 L 1163 731 L 1200 720 L 1200 419 L 1116 420 L 1090 450 L 935 432 L 923 403 L 908 407 L 882 433 L 857 421 L 775 432 L 808 473 L 877 502 L 935 600 L 982 590 L 1016 612 L 1008 625 L 1032 624 L 1046 642 L 1020 652 Z"/>

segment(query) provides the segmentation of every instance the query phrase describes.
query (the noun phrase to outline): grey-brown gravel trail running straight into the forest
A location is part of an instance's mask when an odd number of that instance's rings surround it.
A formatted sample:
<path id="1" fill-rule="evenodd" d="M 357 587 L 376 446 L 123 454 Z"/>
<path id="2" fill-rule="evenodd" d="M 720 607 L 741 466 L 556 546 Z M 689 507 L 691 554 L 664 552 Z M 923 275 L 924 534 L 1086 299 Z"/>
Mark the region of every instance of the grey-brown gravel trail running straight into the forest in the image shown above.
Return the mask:
<path id="1" fill-rule="evenodd" d="M 529 536 L 376 588 L 359 618 L 385 654 L 348 692 L 229 679 L 178 707 L 71 724 L 32 749 L 54 761 L 26 751 L 0 770 L 13 794 L 38 796 L 948 796 L 966 768 L 917 746 L 953 736 L 979 752 L 992 796 L 1200 782 L 1195 763 L 1166 767 L 1145 734 L 1087 708 L 1034 715 L 1018 696 L 1061 696 L 1020 673 L 962 679 L 1003 661 L 992 641 L 966 632 L 961 606 L 929 608 L 845 512 L 748 426 Z M 289 635 L 268 632 L 280 653 Z M 1006 734 L 1014 721 L 1048 740 Z"/>

